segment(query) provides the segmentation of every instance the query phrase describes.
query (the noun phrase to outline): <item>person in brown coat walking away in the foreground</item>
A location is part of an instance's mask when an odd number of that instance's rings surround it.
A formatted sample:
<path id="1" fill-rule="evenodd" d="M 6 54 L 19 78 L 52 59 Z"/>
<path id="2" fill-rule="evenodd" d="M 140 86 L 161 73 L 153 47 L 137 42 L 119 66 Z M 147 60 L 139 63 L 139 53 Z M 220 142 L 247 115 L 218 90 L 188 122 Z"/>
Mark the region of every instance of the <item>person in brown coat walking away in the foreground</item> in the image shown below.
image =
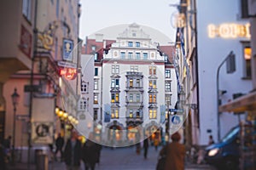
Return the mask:
<path id="1" fill-rule="evenodd" d="M 172 143 L 166 144 L 160 150 L 160 156 L 166 156 L 164 170 L 183 170 L 185 159 L 185 146 L 179 143 L 181 136 L 179 133 L 173 133 Z"/>

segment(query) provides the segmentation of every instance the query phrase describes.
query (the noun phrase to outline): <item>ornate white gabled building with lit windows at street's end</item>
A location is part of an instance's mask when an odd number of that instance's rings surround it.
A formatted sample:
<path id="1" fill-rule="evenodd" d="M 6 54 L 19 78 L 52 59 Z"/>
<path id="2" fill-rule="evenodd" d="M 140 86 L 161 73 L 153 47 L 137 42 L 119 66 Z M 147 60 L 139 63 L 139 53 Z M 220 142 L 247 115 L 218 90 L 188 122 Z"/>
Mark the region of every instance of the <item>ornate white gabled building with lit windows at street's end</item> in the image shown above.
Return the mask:
<path id="1" fill-rule="evenodd" d="M 87 38 L 84 49 L 95 59 L 90 115 L 101 127 L 103 142 L 134 144 L 145 133 L 160 138 L 166 133 L 167 109 L 174 109 L 177 102 L 174 48 L 153 42 L 135 23 L 113 41 L 103 36 Z"/>

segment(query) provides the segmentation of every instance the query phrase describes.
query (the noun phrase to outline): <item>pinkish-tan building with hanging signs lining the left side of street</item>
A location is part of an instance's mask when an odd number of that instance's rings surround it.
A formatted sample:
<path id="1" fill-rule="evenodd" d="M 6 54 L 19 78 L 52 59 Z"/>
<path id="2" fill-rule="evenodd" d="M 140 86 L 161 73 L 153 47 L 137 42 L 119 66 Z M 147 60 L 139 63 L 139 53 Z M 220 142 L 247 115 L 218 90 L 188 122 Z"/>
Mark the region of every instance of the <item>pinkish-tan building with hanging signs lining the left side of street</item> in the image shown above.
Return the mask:
<path id="1" fill-rule="evenodd" d="M 15 148 L 53 144 L 55 133 L 77 123 L 79 1 L 3 1 L 1 8 L 1 137 L 13 136 Z"/>

